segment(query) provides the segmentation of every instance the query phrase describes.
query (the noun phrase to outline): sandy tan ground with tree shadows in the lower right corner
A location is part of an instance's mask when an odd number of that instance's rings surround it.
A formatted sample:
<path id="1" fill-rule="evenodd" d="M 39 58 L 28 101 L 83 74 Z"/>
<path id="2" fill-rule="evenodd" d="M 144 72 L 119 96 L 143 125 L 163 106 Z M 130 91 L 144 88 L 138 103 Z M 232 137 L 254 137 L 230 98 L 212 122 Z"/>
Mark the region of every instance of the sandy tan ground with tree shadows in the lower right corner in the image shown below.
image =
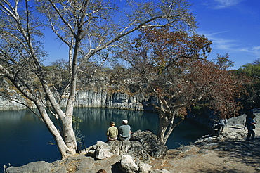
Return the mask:
<path id="1" fill-rule="evenodd" d="M 191 146 L 183 152 L 169 150 L 162 160 L 154 160 L 153 167 L 169 172 L 260 172 L 260 138 L 256 129 L 255 142 L 245 141 L 247 130 L 240 127 L 226 127 L 225 133 L 239 132 L 239 139 L 213 139 L 200 148 Z"/>

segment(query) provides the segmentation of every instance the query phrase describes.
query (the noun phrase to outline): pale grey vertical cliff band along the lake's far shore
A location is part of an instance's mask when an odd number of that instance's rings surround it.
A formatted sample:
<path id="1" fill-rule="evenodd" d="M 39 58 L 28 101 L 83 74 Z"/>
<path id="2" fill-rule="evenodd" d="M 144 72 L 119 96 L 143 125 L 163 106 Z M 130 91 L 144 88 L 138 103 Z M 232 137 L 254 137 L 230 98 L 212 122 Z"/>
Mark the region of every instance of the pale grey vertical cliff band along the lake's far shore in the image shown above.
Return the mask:
<path id="1" fill-rule="evenodd" d="M 25 99 L 22 99 L 25 102 Z M 108 94 L 105 91 L 82 91 L 75 98 L 75 107 L 96 107 L 96 108 L 117 108 L 126 110 L 151 110 L 148 103 L 155 102 L 152 98 L 139 95 L 129 96 L 124 93 Z M 65 107 L 67 97 L 61 101 L 61 106 Z M 33 105 L 32 105 L 33 107 Z M 0 110 L 25 109 L 24 105 L 0 97 Z"/>

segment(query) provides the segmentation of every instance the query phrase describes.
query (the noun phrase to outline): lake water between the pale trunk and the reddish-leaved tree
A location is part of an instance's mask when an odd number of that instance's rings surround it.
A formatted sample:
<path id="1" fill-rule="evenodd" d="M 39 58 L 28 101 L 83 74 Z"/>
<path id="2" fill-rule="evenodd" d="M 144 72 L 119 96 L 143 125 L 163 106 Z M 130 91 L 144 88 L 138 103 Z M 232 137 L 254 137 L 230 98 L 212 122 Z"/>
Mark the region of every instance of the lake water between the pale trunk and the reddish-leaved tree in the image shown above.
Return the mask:
<path id="1" fill-rule="evenodd" d="M 116 127 L 119 127 L 122 120 L 127 119 L 131 131 L 150 129 L 152 132 L 157 132 L 158 116 L 155 113 L 105 108 L 77 108 L 74 115 L 83 120 L 80 130 L 86 136 L 84 141 L 87 146 L 93 145 L 98 140 L 106 141 L 105 132 L 110 126 L 111 120 L 115 122 Z"/>

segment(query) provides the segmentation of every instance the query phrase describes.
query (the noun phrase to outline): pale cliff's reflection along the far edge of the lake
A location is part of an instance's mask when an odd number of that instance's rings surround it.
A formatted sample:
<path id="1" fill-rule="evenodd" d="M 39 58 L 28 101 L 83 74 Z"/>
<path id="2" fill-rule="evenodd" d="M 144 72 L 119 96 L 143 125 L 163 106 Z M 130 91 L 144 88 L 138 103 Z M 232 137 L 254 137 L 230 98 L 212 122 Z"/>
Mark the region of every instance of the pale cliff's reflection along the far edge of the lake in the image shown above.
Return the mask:
<path id="1" fill-rule="evenodd" d="M 122 120 L 126 119 L 129 121 L 133 131 L 150 129 L 152 132 L 157 132 L 158 115 L 156 113 L 108 108 L 74 108 L 74 115 L 83 120 L 81 124 L 85 124 L 91 129 L 96 129 L 99 126 L 107 128 L 111 120 L 119 127 L 122 124 Z M 51 117 L 54 119 L 53 116 Z M 0 124 L 2 125 L 18 125 L 25 122 L 44 124 L 28 109 L 0 110 Z M 57 124 L 56 120 L 53 122 Z"/>

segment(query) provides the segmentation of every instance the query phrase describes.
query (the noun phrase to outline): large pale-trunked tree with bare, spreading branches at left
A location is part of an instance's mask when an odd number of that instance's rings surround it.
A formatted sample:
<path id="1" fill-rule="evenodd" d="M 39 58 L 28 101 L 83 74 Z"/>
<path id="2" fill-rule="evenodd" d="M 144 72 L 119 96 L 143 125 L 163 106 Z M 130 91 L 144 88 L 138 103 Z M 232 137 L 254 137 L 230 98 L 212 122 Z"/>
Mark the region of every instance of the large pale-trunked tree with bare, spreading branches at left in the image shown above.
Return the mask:
<path id="1" fill-rule="evenodd" d="M 91 68 L 92 74 L 96 72 L 115 51 L 127 46 L 131 33 L 141 28 L 195 27 L 193 15 L 188 11 L 190 5 L 184 0 L 129 1 L 125 13 L 117 3 L 122 1 L 0 1 L 0 72 L 13 87 L 2 93 L 7 92 L 5 96 L 11 97 L 11 92 L 18 92 L 27 101 L 13 97 L 14 101 L 31 110 L 32 103 L 36 106 L 39 113 L 34 113 L 53 135 L 62 158 L 74 155 L 77 150 L 72 113 L 75 95 L 81 88 L 77 85 L 79 72 Z M 45 25 L 69 48 L 68 84 L 53 84 L 42 65 L 47 56 L 41 32 Z M 60 92 L 63 89 L 53 86 L 67 87 L 65 110 L 60 108 L 57 97 L 64 93 Z M 61 122 L 60 129 L 47 108 Z"/>

